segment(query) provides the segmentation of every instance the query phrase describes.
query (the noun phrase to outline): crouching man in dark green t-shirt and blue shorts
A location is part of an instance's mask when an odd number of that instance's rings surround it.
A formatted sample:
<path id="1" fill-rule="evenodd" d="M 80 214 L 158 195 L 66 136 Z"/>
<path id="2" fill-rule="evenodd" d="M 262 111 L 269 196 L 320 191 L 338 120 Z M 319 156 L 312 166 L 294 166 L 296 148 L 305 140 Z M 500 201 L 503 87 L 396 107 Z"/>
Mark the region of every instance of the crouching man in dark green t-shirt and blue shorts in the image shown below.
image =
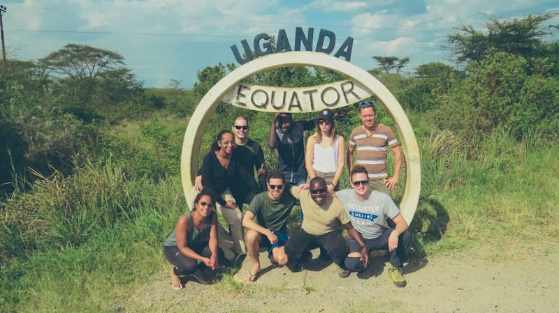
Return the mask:
<path id="1" fill-rule="evenodd" d="M 297 200 L 286 189 L 282 171 L 274 169 L 268 174 L 268 191 L 256 194 L 250 202 L 249 209 L 242 217 L 242 226 L 247 227 L 245 243 L 252 268 L 247 280 L 254 282 L 260 273 L 260 247 L 268 250 L 268 257 L 273 265 L 284 266 L 287 256 L 284 245 L 287 242 L 287 217 Z M 292 188 L 293 190 L 294 188 Z M 254 222 L 254 217 L 256 221 Z"/>

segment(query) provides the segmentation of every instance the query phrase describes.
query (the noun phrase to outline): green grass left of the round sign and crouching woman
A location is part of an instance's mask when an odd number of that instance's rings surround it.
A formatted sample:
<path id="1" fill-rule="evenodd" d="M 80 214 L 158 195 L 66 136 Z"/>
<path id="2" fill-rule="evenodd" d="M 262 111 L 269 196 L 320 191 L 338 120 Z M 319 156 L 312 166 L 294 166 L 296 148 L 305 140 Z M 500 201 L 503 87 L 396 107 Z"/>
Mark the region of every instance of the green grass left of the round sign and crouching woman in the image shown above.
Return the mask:
<path id="1" fill-rule="evenodd" d="M 0 307 L 114 312 L 108 299 L 161 269 L 185 210 L 178 179 L 131 180 L 110 162 L 39 179 L 2 204 Z"/>

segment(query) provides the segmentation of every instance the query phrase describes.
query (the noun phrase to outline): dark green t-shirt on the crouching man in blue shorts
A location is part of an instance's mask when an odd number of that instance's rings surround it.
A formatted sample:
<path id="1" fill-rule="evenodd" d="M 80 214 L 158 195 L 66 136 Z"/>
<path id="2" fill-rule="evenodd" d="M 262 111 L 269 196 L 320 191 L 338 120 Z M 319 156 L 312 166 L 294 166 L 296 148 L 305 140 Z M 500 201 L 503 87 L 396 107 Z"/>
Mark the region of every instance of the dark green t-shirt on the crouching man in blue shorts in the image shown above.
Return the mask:
<path id="1" fill-rule="evenodd" d="M 272 200 L 268 191 L 256 194 L 249 205 L 248 211 L 256 216 L 256 221 L 261 227 L 270 231 L 287 231 L 287 217 L 297 200 L 287 191 L 278 200 Z"/>

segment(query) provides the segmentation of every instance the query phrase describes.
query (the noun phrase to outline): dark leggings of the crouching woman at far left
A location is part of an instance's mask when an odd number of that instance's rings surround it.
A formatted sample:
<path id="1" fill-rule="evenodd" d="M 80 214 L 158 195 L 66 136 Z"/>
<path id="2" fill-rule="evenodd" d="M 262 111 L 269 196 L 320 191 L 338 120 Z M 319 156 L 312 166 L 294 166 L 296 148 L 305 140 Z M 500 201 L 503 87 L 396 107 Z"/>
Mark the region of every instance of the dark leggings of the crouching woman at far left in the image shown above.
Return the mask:
<path id="1" fill-rule="evenodd" d="M 210 251 L 210 247 L 208 247 L 208 243 L 205 245 L 194 245 L 193 247 L 189 247 L 194 250 L 196 253 L 200 254 L 203 257 L 211 257 L 212 252 Z M 170 264 L 173 264 L 175 268 L 173 271 L 176 275 L 191 275 L 196 272 L 197 268 L 205 268 L 205 264 L 200 262 L 198 265 L 198 261 L 187 257 L 186 255 L 180 253 L 179 248 L 175 245 L 173 247 L 164 247 L 164 254 Z M 217 248 L 217 260 L 221 264 L 221 262 L 225 259 L 223 250 L 221 248 Z"/>

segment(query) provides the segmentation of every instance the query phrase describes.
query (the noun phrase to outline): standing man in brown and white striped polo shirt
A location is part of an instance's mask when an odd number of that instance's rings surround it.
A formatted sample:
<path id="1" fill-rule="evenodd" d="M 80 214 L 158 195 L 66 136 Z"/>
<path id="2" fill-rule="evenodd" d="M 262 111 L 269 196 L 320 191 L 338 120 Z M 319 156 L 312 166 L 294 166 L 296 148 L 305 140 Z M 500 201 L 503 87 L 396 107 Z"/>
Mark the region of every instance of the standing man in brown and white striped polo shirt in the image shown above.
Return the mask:
<path id="1" fill-rule="evenodd" d="M 363 165 L 369 173 L 370 188 L 391 196 L 391 190 L 398 183 L 400 176 L 402 149 L 394 132 L 388 126 L 375 121 L 375 102 L 361 102 L 359 116 L 361 126 L 354 129 L 349 136 L 347 170 L 351 173 L 354 165 Z M 390 178 L 386 169 L 386 153 L 389 147 L 395 155 L 394 174 Z M 353 158 L 354 151 L 357 151 L 356 162 Z"/>

